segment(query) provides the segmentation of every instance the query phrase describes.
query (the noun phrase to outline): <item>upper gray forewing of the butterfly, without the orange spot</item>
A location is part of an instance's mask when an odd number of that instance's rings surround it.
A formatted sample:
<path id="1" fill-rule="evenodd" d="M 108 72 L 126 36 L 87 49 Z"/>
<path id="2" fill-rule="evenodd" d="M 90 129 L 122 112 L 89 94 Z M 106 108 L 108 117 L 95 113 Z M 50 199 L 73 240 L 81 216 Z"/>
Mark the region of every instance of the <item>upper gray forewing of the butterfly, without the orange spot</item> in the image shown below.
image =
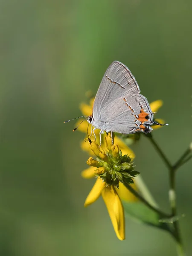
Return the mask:
<path id="1" fill-rule="evenodd" d="M 131 71 L 119 61 L 113 61 L 105 72 L 93 104 L 93 118 L 98 119 L 106 105 L 119 97 L 140 93 Z"/>

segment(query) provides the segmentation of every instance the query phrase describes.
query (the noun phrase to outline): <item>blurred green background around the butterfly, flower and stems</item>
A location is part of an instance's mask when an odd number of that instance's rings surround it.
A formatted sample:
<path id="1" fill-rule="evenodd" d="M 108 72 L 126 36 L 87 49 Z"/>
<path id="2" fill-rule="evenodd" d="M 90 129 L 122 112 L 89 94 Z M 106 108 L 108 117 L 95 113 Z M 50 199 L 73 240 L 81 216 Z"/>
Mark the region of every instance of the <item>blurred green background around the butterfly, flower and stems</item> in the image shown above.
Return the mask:
<path id="1" fill-rule="evenodd" d="M 85 93 L 118 60 L 169 126 L 153 132 L 175 162 L 192 141 L 190 0 L 0 0 L 0 255 L 176 255 L 168 233 L 126 218 L 113 231 L 94 180 L 81 178 L 84 134 L 72 132 Z M 169 211 L 168 171 L 146 138 L 137 170 Z M 177 172 L 181 232 L 192 251 L 192 164 Z"/>

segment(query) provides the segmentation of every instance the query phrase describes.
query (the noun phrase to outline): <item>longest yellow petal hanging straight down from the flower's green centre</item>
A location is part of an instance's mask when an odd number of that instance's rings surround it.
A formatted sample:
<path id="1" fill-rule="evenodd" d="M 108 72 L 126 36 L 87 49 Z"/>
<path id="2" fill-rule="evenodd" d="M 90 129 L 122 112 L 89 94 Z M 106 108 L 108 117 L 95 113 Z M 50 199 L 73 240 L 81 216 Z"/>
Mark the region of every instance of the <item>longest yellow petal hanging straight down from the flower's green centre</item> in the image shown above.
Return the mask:
<path id="1" fill-rule="evenodd" d="M 108 209 L 116 236 L 120 240 L 125 239 L 125 217 L 122 202 L 113 186 L 105 186 L 102 189 L 102 197 Z"/>

